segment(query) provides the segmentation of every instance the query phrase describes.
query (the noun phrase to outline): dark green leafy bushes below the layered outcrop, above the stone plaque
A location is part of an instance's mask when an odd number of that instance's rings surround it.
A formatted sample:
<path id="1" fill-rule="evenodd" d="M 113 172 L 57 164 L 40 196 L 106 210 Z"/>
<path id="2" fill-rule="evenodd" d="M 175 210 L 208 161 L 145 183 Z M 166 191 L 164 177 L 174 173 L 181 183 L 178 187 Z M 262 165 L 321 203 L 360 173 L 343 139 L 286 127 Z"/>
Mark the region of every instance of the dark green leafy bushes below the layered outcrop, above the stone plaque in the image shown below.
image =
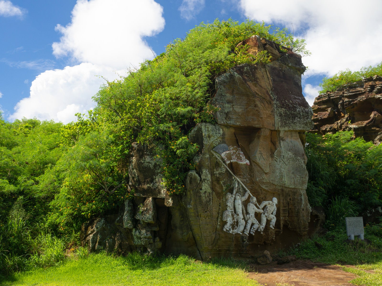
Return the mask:
<path id="1" fill-rule="evenodd" d="M 312 206 L 328 199 L 349 198 L 359 211 L 382 205 L 382 146 L 352 131 L 307 134 L 309 182 L 307 194 Z"/>

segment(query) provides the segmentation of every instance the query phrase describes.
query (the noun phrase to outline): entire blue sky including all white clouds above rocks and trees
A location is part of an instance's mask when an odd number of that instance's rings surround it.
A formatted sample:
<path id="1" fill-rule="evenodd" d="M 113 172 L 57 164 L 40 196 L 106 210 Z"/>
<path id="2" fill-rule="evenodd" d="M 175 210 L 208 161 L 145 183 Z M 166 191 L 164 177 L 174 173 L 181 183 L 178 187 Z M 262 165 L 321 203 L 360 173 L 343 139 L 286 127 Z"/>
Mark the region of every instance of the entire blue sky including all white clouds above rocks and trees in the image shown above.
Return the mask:
<path id="1" fill-rule="evenodd" d="M 125 75 L 200 22 L 264 20 L 306 39 L 303 93 L 322 77 L 382 61 L 382 1 L 0 0 L 0 106 L 22 117 L 74 120 L 106 77 Z"/>

